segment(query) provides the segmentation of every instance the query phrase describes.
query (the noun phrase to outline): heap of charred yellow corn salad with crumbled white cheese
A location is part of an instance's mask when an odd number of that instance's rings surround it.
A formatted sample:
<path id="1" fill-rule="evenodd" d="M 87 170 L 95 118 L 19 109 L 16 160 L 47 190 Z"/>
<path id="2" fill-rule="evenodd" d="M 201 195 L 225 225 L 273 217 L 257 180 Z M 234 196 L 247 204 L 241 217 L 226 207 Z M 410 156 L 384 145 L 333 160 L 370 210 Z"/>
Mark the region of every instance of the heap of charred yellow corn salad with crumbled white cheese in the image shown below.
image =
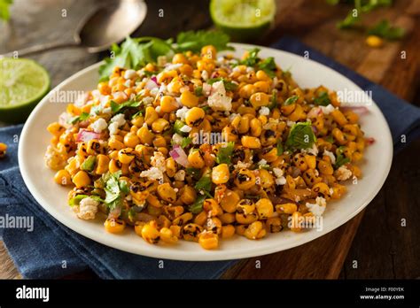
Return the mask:
<path id="1" fill-rule="evenodd" d="M 258 49 L 239 59 L 208 45 L 115 67 L 48 127 L 45 162 L 80 219 L 216 249 L 236 234 L 304 230 L 341 198 L 362 174 L 358 120 Z"/>

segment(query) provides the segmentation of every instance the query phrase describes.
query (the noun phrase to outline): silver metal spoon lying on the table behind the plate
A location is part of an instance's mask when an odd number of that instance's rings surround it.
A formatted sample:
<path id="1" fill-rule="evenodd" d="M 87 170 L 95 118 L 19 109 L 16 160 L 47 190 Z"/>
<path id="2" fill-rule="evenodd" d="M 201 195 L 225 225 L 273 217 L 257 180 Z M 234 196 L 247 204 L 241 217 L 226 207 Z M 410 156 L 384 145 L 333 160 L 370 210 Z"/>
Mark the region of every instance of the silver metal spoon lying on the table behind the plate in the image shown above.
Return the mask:
<path id="1" fill-rule="evenodd" d="M 73 42 L 49 42 L 16 50 L 0 57 L 19 57 L 65 47 L 82 47 L 89 53 L 107 50 L 113 42 L 121 42 L 139 27 L 147 12 L 142 0 L 121 0 L 114 5 L 100 7 L 79 23 Z"/>

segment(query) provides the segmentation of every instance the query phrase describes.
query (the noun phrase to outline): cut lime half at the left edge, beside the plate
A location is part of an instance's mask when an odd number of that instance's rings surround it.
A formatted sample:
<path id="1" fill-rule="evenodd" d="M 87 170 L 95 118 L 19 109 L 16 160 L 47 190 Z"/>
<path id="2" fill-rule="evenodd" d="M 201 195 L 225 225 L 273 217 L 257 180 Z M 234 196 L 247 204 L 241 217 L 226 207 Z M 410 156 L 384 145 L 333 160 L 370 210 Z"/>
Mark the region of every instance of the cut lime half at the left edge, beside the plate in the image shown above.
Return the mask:
<path id="1" fill-rule="evenodd" d="M 0 120 L 19 123 L 50 89 L 50 77 L 27 58 L 0 59 Z"/>

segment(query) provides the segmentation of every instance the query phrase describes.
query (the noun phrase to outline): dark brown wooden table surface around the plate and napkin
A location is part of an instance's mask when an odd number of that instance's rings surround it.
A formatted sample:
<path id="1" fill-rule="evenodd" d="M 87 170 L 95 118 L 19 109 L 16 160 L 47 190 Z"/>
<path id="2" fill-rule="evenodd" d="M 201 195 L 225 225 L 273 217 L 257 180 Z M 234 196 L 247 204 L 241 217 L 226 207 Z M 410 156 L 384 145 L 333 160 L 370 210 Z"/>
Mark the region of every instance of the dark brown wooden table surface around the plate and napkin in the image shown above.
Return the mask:
<path id="1" fill-rule="evenodd" d="M 80 2 L 65 0 L 37 0 L 31 2 L 32 5 L 27 5 L 28 2 L 15 0 L 12 22 L 0 25 L 0 52 L 36 42 L 71 39 L 77 20 L 97 5 L 95 0 L 83 1 L 83 6 Z M 53 13 L 36 23 L 47 8 Z M 61 16 L 63 9 L 67 10 L 66 18 Z M 163 19 L 158 17 L 159 9 L 164 10 Z M 274 28 L 256 43 L 269 45 L 282 35 L 297 36 L 397 96 L 419 105 L 420 0 L 395 1 L 393 9 L 378 9 L 363 20 L 366 25 L 372 25 L 387 18 L 408 30 L 403 41 L 387 42 L 381 49 L 369 48 L 362 30 L 337 29 L 337 21 L 343 19 L 348 10 L 348 6 L 329 6 L 324 0 L 278 0 Z M 136 35 L 166 38 L 182 30 L 200 27 L 211 27 L 205 2 L 183 4 L 178 1 L 174 5 L 168 1 L 149 1 L 147 19 Z M 406 52 L 407 58 L 401 58 L 401 51 Z M 83 50 L 72 49 L 45 52 L 33 58 L 47 67 L 55 86 L 101 57 L 103 54 L 89 55 Z M 420 277 L 419 150 L 420 141 L 412 142 L 393 158 L 393 167 L 384 187 L 365 211 L 345 225 L 297 248 L 241 260 L 222 278 Z M 401 219 L 406 219 L 405 227 L 401 226 Z M 256 266 L 256 261 L 260 261 L 261 266 Z M 19 277 L 0 242 L 0 278 Z M 86 271 L 72 278 L 95 278 L 95 275 Z"/>

